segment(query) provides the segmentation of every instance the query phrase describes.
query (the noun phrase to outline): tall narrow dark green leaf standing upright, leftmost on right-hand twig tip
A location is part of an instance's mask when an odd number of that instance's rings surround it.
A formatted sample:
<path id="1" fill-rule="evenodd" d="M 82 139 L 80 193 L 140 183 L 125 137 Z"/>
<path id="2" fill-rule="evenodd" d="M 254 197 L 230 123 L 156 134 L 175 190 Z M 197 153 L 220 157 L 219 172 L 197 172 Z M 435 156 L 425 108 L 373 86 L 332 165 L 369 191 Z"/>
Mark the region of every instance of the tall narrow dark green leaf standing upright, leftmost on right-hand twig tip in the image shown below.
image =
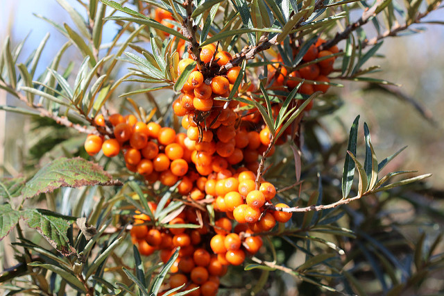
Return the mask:
<path id="1" fill-rule="evenodd" d="M 350 135 L 348 137 L 348 147 L 347 150 L 350 151 L 353 155 L 356 154 L 357 147 L 357 134 L 358 134 L 358 123 L 359 123 L 358 115 L 355 118 L 355 121 L 352 124 L 350 129 Z M 352 188 L 353 177 L 355 176 L 355 162 L 352 160 L 352 157 L 347 154 L 345 155 L 344 168 L 342 172 L 342 198 L 345 199 L 348 197 L 350 190 Z"/>

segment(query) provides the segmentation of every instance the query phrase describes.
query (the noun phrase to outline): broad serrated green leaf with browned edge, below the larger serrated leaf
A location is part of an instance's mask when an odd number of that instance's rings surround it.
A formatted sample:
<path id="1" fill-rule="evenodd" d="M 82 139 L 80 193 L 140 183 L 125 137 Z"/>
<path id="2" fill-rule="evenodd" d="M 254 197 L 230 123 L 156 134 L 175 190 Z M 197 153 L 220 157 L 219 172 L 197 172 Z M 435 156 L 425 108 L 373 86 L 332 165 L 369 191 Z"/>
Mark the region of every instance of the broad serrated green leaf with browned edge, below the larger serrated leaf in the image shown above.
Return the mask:
<path id="1" fill-rule="evenodd" d="M 67 232 L 74 217 L 60 215 L 40 208 L 30 208 L 24 211 L 24 218 L 28 227 L 37 229 L 46 240 L 61 254 L 74 254 L 76 249 L 69 245 Z"/>

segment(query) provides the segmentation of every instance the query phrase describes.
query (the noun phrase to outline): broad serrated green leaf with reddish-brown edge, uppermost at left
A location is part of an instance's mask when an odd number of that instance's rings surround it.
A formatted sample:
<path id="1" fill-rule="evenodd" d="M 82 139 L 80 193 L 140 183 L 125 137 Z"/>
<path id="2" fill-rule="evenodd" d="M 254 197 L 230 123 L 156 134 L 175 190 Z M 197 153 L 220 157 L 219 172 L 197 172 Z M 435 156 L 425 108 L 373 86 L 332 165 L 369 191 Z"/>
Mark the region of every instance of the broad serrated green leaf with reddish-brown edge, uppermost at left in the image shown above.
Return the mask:
<path id="1" fill-rule="evenodd" d="M 22 190 L 24 198 L 30 198 L 40 193 L 53 192 L 60 187 L 80 186 L 119 186 L 120 181 L 113 180 L 96 163 L 83 158 L 59 158 L 40 169 L 33 179 L 26 182 Z"/>

